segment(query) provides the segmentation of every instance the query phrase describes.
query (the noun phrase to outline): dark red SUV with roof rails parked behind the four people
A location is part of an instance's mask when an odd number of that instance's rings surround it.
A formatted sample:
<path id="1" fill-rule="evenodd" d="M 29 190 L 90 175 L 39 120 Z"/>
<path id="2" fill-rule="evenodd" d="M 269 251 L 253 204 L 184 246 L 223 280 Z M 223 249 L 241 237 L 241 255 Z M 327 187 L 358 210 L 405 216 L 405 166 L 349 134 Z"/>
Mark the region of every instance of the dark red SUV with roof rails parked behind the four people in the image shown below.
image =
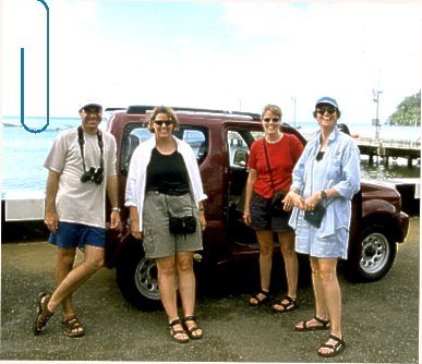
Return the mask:
<path id="1" fill-rule="evenodd" d="M 118 145 L 120 206 L 124 206 L 132 153 L 140 143 L 154 136 L 146 130 L 152 110 L 153 107 L 132 106 L 114 111 L 107 122 L 107 130 L 114 135 Z M 241 202 L 248 178 L 249 148 L 263 136 L 260 114 L 189 108 L 173 110 L 181 125 L 174 134 L 195 151 L 208 196 L 204 202 L 207 219 L 204 250 L 195 255 L 195 259 L 202 269 L 212 270 L 236 259 L 257 257 L 255 233 L 242 222 Z M 284 125 L 282 131 L 306 143 L 296 129 Z M 361 280 L 381 279 L 391 268 L 397 243 L 405 242 L 409 229 L 409 217 L 401 211 L 400 194 L 390 186 L 362 181 L 352 208 L 348 274 Z M 128 213 L 122 210 L 123 221 L 126 221 Z M 108 231 L 106 266 L 116 267 L 118 286 L 130 303 L 143 310 L 159 305 L 155 262 L 144 257 L 142 242 L 132 238 L 125 223 L 119 232 Z"/>

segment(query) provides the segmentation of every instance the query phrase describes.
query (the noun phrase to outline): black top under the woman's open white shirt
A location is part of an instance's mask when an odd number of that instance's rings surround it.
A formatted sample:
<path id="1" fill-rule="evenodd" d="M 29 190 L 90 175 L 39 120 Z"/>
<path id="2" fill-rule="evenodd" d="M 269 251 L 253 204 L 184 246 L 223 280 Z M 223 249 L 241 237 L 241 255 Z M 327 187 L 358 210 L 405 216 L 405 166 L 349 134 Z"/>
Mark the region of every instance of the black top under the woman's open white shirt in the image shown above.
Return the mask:
<path id="1" fill-rule="evenodd" d="M 174 150 L 165 156 L 157 148 L 153 149 L 146 168 L 146 192 L 149 191 L 170 196 L 181 196 L 190 192 L 188 169 L 179 151 Z"/>

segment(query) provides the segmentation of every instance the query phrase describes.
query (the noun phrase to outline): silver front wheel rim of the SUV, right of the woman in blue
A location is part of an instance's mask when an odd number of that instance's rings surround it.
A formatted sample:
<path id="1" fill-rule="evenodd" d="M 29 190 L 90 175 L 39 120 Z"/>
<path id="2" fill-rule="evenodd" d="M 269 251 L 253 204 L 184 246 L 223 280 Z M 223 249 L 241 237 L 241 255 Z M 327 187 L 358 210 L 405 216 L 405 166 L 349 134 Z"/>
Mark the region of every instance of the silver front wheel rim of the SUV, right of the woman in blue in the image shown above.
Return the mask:
<path id="1" fill-rule="evenodd" d="M 387 238 L 381 233 L 372 233 L 362 243 L 361 269 L 366 274 L 376 274 L 388 262 L 390 251 Z"/>

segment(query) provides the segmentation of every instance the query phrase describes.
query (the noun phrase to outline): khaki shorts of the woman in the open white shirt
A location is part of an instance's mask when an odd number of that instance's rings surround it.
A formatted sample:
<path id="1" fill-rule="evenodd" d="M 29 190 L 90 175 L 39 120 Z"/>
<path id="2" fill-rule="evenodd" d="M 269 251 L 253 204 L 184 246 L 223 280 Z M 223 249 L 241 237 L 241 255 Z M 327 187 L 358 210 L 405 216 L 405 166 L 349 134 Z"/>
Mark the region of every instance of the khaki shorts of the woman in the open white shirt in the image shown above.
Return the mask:
<path id="1" fill-rule="evenodd" d="M 169 211 L 177 217 L 193 214 L 196 218 L 196 232 L 171 234 Z M 143 244 L 147 258 L 161 258 L 176 253 L 202 250 L 200 214 L 191 194 L 169 196 L 159 192 L 148 192 L 145 195 L 143 214 Z"/>

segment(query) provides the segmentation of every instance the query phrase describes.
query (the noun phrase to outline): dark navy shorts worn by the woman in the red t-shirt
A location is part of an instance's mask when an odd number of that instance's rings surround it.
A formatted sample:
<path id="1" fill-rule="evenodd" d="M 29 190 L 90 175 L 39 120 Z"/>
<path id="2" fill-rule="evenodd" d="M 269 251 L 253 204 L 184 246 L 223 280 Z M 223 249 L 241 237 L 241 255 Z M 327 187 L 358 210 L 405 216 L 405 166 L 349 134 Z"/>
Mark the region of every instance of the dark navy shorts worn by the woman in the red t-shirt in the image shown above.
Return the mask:
<path id="1" fill-rule="evenodd" d="M 251 226 L 254 230 L 272 230 L 274 232 L 293 231 L 289 226 L 290 213 L 274 213 L 272 198 L 264 198 L 256 193 L 251 198 Z"/>

